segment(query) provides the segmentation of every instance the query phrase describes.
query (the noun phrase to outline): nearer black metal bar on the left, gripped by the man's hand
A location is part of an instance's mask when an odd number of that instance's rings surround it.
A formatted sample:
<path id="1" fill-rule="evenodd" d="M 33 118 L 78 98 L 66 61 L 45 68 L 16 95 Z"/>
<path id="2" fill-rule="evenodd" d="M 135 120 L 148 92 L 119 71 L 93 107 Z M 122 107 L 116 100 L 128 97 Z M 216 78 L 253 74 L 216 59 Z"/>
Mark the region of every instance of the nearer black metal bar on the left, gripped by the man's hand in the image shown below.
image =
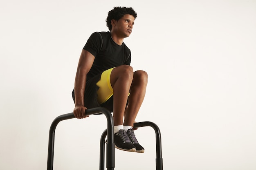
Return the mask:
<path id="1" fill-rule="evenodd" d="M 115 144 L 114 144 L 114 121 L 112 114 L 106 108 L 98 107 L 91 108 L 85 111 L 86 115 L 93 115 L 102 113 L 107 118 L 107 132 L 108 132 L 108 144 L 107 144 L 107 168 L 115 168 Z M 60 115 L 54 119 L 49 130 L 49 143 L 48 143 L 48 159 L 47 159 L 47 170 L 53 170 L 53 159 L 54 159 L 54 137 L 55 129 L 60 121 L 74 118 L 74 113 L 67 113 Z"/>

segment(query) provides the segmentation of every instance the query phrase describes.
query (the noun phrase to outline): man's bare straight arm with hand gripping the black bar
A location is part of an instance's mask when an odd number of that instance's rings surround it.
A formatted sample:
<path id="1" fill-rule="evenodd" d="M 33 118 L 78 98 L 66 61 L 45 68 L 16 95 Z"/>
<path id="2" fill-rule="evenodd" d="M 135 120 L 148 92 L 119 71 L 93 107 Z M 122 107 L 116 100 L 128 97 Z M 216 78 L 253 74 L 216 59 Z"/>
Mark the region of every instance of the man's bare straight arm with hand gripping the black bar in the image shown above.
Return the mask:
<path id="1" fill-rule="evenodd" d="M 87 109 L 84 104 L 86 75 L 92 68 L 94 58 L 95 58 L 94 55 L 92 55 L 90 52 L 86 50 L 82 50 L 82 53 L 79 58 L 79 63 L 76 71 L 75 86 L 74 86 L 75 87 L 74 115 L 78 119 L 85 118 L 85 110 Z"/>

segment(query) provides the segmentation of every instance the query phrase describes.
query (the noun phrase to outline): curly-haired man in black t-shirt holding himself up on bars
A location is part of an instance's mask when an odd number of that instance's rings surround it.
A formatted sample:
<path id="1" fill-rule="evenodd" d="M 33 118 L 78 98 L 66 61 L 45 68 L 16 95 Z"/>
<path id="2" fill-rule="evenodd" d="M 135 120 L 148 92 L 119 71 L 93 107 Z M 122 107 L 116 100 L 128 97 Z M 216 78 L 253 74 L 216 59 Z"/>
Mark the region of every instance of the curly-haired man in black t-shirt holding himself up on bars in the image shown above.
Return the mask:
<path id="1" fill-rule="evenodd" d="M 88 117 L 87 108 L 107 108 L 113 112 L 115 147 L 143 153 L 133 123 L 144 100 L 148 75 L 141 70 L 133 72 L 130 49 L 123 42 L 132 33 L 136 17 L 132 8 L 114 7 L 108 12 L 110 32 L 95 32 L 88 39 L 79 59 L 72 95 L 76 118 Z"/>

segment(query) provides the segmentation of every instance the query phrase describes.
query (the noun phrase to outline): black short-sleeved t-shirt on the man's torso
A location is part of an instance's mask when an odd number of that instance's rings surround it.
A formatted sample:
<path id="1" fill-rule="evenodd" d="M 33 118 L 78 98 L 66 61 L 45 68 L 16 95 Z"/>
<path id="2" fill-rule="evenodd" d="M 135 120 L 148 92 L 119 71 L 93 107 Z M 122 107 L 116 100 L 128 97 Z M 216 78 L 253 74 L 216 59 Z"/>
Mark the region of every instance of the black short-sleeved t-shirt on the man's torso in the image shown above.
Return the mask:
<path id="1" fill-rule="evenodd" d="M 83 49 L 95 57 L 92 68 L 87 74 L 87 81 L 109 68 L 124 64 L 130 65 L 131 62 L 130 49 L 124 42 L 121 46 L 116 44 L 112 40 L 110 32 L 92 33 Z"/>

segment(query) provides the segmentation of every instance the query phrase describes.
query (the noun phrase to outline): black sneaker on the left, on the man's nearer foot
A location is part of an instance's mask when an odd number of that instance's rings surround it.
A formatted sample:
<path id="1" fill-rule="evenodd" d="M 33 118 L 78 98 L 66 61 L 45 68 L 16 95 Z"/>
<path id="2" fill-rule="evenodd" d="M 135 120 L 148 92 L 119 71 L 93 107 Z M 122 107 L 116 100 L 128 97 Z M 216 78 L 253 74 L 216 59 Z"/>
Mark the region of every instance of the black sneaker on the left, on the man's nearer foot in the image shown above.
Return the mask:
<path id="1" fill-rule="evenodd" d="M 136 147 L 132 145 L 126 131 L 124 129 L 120 129 L 119 132 L 114 134 L 114 142 L 115 148 L 130 152 L 135 152 Z"/>

